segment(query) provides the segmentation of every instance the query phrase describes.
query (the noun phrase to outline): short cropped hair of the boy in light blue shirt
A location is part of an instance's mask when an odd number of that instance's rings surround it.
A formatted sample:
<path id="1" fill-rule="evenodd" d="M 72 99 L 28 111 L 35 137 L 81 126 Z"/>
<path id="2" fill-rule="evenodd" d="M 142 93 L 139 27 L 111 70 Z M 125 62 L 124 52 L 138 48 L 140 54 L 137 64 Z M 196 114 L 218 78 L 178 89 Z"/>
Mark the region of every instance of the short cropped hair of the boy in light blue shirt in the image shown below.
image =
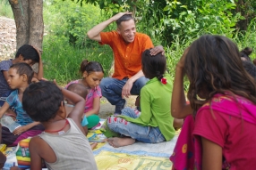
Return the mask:
<path id="1" fill-rule="evenodd" d="M 32 77 L 34 76 L 34 71 L 33 69 L 30 67 L 29 64 L 25 63 L 25 62 L 19 62 L 16 64 L 13 64 L 10 69 L 16 69 L 17 74 L 21 75 L 27 75 L 28 77 L 28 84 L 31 83 Z"/>

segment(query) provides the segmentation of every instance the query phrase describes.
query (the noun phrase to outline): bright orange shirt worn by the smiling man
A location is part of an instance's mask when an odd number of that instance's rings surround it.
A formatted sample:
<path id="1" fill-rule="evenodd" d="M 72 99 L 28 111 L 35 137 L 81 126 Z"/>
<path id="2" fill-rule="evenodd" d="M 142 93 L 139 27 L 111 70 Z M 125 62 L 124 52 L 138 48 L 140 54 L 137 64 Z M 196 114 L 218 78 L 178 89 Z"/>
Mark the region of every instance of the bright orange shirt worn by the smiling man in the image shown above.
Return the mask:
<path id="1" fill-rule="evenodd" d="M 100 45 L 110 45 L 114 53 L 115 72 L 112 77 L 122 80 L 132 77 L 141 70 L 141 54 L 154 45 L 149 36 L 136 33 L 134 41 L 128 45 L 116 31 L 101 32 Z"/>

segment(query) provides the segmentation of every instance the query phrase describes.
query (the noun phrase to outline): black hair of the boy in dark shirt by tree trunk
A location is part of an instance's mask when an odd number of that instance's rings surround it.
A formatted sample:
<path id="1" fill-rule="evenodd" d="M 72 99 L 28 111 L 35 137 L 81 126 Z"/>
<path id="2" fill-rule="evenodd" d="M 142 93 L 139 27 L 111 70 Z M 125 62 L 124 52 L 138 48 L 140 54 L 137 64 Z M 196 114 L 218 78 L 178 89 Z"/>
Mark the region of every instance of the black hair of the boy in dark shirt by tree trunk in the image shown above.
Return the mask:
<path id="1" fill-rule="evenodd" d="M 32 60 L 34 62 L 39 61 L 39 54 L 37 50 L 32 45 L 22 45 L 16 55 L 15 58 L 18 58 L 20 55 L 22 55 L 24 61 L 26 60 Z"/>

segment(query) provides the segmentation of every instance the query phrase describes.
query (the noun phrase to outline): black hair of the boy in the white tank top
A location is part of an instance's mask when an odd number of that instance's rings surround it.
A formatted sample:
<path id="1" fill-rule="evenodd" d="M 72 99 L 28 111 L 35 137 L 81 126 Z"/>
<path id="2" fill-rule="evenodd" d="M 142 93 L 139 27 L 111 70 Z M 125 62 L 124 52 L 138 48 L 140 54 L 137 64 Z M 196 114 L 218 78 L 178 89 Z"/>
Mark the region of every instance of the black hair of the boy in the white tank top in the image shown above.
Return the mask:
<path id="1" fill-rule="evenodd" d="M 62 101 L 64 95 L 57 85 L 40 81 L 26 88 L 22 107 L 34 121 L 47 122 L 56 116 Z"/>

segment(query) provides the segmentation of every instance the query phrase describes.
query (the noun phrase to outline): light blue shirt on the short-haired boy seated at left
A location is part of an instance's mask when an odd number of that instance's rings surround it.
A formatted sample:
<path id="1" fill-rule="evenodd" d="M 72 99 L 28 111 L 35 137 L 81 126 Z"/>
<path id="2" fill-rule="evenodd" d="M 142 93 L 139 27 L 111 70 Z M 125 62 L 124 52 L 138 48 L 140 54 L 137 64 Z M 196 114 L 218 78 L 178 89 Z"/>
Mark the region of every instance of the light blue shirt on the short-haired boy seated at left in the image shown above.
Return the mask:
<path id="1" fill-rule="evenodd" d="M 19 91 L 14 90 L 13 93 L 11 93 L 7 99 L 6 102 L 15 109 L 15 112 L 17 114 L 16 122 L 20 125 L 28 125 L 30 123 L 33 123 L 33 120 L 30 118 L 30 116 L 26 113 L 26 111 L 22 108 L 22 103 L 19 100 Z"/>

